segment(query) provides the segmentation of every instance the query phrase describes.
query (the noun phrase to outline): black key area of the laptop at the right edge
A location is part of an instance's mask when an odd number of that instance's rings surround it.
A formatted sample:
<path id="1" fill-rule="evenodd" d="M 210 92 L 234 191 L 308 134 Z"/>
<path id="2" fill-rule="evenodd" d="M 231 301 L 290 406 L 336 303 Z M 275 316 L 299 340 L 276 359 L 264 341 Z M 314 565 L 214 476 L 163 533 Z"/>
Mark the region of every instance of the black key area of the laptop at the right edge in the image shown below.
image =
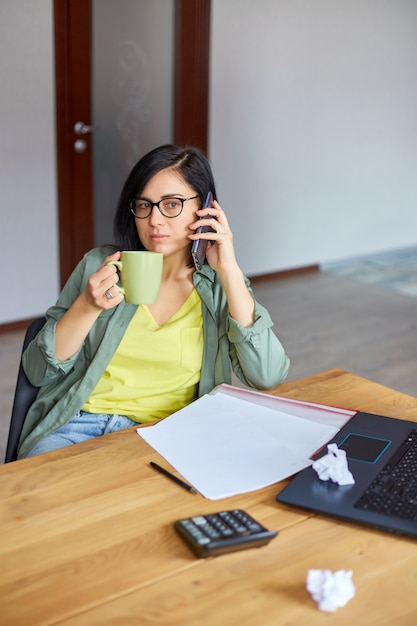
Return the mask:
<path id="1" fill-rule="evenodd" d="M 417 520 L 417 429 L 407 435 L 354 506 Z"/>

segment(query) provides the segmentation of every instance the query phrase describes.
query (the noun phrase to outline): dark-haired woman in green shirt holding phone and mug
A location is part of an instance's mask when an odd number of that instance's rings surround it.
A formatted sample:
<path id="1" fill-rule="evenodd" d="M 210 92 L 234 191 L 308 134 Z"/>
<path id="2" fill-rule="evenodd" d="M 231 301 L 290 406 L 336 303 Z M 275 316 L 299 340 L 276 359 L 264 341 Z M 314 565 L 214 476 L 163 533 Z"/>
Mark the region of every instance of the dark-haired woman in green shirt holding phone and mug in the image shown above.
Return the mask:
<path id="1" fill-rule="evenodd" d="M 202 209 L 209 191 L 214 207 Z M 197 234 L 198 226 L 214 232 Z M 91 250 L 23 355 L 40 387 L 26 417 L 19 458 L 162 419 L 231 382 L 270 388 L 289 360 L 268 312 L 253 297 L 234 252 L 212 171 L 195 148 L 164 145 L 131 171 L 119 200 L 115 247 Z M 191 245 L 204 238 L 196 271 Z M 110 260 L 121 250 L 164 255 L 152 305 L 124 301 Z"/>

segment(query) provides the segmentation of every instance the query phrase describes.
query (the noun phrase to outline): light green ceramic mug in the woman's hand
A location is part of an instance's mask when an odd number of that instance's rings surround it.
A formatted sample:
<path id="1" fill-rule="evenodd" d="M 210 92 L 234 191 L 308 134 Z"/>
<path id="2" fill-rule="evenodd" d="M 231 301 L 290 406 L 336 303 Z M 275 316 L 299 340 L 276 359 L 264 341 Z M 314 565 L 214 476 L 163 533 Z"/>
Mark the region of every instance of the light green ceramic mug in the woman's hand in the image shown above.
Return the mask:
<path id="1" fill-rule="evenodd" d="M 120 261 L 109 261 L 120 272 L 116 285 L 128 304 L 153 304 L 159 293 L 164 256 L 161 252 L 124 250 Z"/>

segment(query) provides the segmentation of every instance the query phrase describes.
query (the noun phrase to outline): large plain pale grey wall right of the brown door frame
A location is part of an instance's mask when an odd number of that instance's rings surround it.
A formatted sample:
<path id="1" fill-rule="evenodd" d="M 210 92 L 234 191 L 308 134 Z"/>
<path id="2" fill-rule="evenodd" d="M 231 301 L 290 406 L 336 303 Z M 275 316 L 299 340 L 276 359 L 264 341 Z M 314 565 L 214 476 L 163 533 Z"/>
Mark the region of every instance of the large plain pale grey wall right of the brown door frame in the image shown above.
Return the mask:
<path id="1" fill-rule="evenodd" d="M 417 2 L 213 0 L 210 156 L 250 274 L 417 243 Z"/>

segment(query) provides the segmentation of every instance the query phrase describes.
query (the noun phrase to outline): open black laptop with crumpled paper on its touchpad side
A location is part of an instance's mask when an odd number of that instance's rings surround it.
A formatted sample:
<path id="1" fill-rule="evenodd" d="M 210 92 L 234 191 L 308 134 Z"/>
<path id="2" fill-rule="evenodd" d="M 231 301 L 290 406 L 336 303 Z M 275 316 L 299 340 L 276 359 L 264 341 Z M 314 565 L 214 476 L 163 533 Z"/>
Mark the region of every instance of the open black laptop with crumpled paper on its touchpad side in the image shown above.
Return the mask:
<path id="1" fill-rule="evenodd" d="M 329 443 L 346 451 L 354 485 L 299 472 L 278 502 L 417 538 L 417 423 L 356 413 Z M 317 456 L 327 454 L 327 446 Z"/>

